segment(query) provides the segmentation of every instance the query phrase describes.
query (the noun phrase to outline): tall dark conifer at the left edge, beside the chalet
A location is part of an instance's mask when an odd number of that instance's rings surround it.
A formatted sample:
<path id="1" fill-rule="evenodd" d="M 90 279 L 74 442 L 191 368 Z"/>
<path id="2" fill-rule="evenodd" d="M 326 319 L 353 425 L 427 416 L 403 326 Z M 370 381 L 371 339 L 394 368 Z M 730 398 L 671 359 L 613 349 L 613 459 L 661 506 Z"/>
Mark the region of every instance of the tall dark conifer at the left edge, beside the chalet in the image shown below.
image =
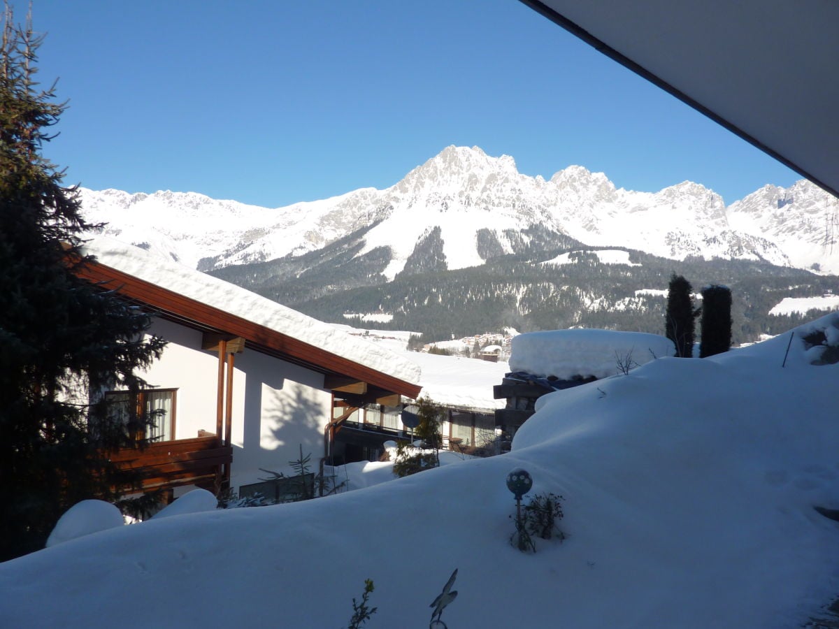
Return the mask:
<path id="1" fill-rule="evenodd" d="M 79 279 L 91 229 L 75 189 L 40 154 L 63 104 L 34 81 L 41 38 L 8 5 L 0 44 L 0 561 L 44 547 L 80 500 L 115 500 L 127 476 L 107 451 L 147 418 L 109 422 L 91 392 L 144 386 L 134 371 L 163 349 L 145 314 Z"/>

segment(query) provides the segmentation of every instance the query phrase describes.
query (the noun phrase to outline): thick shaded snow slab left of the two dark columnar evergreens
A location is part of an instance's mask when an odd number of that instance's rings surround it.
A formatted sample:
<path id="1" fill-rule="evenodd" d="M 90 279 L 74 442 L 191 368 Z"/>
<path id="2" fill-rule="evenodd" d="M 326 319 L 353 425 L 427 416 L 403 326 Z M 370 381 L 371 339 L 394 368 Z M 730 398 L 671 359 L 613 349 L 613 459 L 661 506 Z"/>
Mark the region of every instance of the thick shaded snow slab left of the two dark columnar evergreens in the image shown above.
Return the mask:
<path id="1" fill-rule="evenodd" d="M 646 332 L 614 330 L 552 330 L 513 338 L 509 365 L 513 372 L 569 380 L 575 376 L 603 378 L 622 372 L 618 363 L 644 365 L 674 356 L 670 339 Z"/>

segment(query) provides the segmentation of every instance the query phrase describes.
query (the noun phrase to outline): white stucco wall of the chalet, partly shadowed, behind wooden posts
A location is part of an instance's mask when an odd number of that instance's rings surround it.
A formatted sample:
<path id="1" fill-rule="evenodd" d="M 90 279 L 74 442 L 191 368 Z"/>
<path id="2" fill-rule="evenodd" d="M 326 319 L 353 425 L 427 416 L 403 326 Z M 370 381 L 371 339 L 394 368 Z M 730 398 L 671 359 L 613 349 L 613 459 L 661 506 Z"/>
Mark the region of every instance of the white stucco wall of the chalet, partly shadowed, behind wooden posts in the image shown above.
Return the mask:
<path id="1" fill-rule="evenodd" d="M 169 344 L 145 372 L 149 384 L 177 389 L 175 438 L 216 430 L 218 355 L 201 350 L 201 332 L 156 319 L 150 330 Z M 323 375 L 246 349 L 235 357 L 233 372 L 233 463 L 231 486 L 258 482 L 261 471 L 291 473 L 289 460 L 311 454 L 317 471 L 323 455 L 323 429 L 329 421 L 331 394 Z"/>

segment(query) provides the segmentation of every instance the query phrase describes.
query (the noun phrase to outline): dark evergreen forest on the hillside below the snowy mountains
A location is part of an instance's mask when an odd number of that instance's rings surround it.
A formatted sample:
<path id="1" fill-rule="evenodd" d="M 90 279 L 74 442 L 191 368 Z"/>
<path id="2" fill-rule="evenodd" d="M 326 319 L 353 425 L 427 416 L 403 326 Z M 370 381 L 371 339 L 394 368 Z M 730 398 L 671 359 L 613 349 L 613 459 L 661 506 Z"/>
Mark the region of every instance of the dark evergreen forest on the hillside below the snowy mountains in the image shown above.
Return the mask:
<path id="1" fill-rule="evenodd" d="M 388 282 L 382 274 L 390 261 L 386 247 L 357 255 L 371 227 L 303 256 L 221 268 L 211 274 L 320 320 L 412 330 L 422 333 L 425 342 L 507 326 L 519 331 L 581 326 L 664 334 L 666 298 L 636 295 L 636 291 L 664 291 L 676 273 L 688 278 L 696 293 L 708 284 L 732 290 L 732 342 L 737 345 L 758 340 L 761 334 L 782 333 L 821 314 L 769 315 L 781 299 L 839 292 L 836 276 L 763 262 L 675 261 L 629 251 L 630 264 L 604 264 L 596 249 L 537 230 L 513 255 L 498 255 L 492 232 L 487 231 L 482 238 L 487 262 L 455 271 L 446 270 L 438 236 L 431 232 L 404 270 Z M 576 252 L 574 263 L 539 264 L 569 251 Z M 393 320 L 362 323 L 345 314 L 392 314 Z"/>

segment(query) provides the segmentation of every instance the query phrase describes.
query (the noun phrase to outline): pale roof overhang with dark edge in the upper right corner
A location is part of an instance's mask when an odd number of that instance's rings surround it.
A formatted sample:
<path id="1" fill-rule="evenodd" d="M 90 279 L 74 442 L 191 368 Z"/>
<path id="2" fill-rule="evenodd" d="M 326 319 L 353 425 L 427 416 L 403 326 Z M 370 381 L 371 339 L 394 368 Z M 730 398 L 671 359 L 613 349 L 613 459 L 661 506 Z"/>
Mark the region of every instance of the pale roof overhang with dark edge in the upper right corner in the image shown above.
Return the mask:
<path id="1" fill-rule="evenodd" d="M 839 196 L 839 3 L 520 1 Z"/>

